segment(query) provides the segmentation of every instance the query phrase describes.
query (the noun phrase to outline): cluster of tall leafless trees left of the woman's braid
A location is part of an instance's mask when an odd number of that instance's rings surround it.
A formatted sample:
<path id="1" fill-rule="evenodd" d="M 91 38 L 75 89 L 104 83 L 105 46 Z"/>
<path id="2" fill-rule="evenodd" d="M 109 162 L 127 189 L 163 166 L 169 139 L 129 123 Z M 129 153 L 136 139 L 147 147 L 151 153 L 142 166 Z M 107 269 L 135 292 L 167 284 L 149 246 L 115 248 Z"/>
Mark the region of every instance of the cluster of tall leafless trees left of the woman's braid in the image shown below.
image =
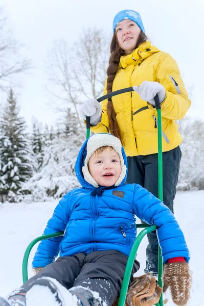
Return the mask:
<path id="1" fill-rule="evenodd" d="M 103 92 L 109 58 L 109 39 L 99 29 L 86 29 L 74 45 L 58 41 L 48 55 L 49 92 L 54 96 L 55 109 L 74 110 L 79 122 L 77 105 Z M 57 103 L 58 102 L 58 103 Z M 60 106 L 59 106 L 60 103 Z"/>

